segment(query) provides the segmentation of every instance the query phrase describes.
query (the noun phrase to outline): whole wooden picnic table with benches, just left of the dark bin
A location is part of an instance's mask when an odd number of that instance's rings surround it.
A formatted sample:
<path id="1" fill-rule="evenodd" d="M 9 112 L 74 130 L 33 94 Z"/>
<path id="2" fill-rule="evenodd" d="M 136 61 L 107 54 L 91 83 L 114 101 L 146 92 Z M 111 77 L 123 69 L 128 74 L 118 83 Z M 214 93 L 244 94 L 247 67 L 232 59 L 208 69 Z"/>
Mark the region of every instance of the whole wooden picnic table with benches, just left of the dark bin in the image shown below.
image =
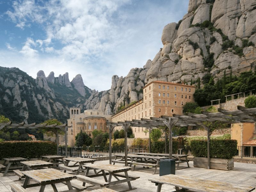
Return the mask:
<path id="1" fill-rule="evenodd" d="M 98 184 L 98 186 L 100 187 L 103 187 L 103 185 L 108 187 L 109 185 L 115 185 L 115 184 L 127 182 L 129 189 L 124 191 L 129 191 L 129 190 L 136 189 L 136 188 L 132 188 L 131 181 L 140 178 L 140 177 L 133 177 L 131 175 L 130 176 L 128 175 L 128 171 L 132 169 L 131 167 L 120 166 L 120 165 L 110 165 L 110 164 L 86 164 L 83 166 L 86 167 L 85 176 L 83 175 L 76 176 L 77 180 L 83 181 L 83 186 L 85 186 L 85 183 L 89 183 L 93 185 Z M 90 169 L 100 170 L 100 171 L 94 173 L 93 175 L 89 175 Z M 108 179 L 105 171 L 109 173 Z M 94 177 L 102 176 L 102 175 L 105 182 L 100 181 L 100 179 L 99 180 L 93 179 Z M 115 177 L 116 181 L 111 181 L 112 177 Z M 121 178 L 124 178 L 124 179 L 121 179 Z"/>

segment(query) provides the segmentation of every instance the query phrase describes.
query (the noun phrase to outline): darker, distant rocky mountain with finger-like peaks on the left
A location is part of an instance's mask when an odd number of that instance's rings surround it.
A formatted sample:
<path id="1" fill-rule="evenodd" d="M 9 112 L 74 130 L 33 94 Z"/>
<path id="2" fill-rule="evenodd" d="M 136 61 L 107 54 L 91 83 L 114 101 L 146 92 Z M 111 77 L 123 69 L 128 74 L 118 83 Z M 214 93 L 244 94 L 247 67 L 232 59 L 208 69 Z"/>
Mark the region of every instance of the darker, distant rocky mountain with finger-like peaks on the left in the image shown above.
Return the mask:
<path id="1" fill-rule="evenodd" d="M 71 82 L 68 73 L 54 77 L 44 71 L 36 79 L 19 68 L 0 67 L 0 114 L 14 122 L 41 123 L 49 118 L 66 122 L 69 107 L 82 106 L 93 91 L 83 83 L 81 75 Z"/>

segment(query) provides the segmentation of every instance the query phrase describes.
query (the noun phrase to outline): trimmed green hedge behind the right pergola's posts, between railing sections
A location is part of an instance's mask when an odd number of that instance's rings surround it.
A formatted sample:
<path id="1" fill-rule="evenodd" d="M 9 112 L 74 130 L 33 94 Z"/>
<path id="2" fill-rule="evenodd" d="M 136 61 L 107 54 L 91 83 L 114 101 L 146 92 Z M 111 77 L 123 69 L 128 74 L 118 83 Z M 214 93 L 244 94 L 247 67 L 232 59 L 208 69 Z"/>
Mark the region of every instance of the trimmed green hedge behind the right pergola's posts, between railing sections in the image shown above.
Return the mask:
<path id="1" fill-rule="evenodd" d="M 172 154 L 178 154 L 177 140 L 172 140 Z M 156 141 L 151 143 L 151 153 L 164 153 L 164 141 Z M 169 153 L 169 140 L 167 141 L 167 153 Z"/>

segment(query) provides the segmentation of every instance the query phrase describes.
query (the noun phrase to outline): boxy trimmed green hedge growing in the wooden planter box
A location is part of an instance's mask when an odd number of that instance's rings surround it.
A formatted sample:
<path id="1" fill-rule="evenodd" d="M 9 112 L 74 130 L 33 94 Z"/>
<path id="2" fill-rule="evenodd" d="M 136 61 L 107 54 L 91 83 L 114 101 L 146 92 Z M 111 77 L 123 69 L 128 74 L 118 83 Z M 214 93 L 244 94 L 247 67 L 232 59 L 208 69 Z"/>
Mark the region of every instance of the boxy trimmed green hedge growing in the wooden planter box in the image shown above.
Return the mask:
<path id="1" fill-rule="evenodd" d="M 236 155 L 237 140 L 210 140 L 210 157 L 230 159 Z M 191 152 L 195 157 L 207 157 L 207 140 L 192 140 Z"/>

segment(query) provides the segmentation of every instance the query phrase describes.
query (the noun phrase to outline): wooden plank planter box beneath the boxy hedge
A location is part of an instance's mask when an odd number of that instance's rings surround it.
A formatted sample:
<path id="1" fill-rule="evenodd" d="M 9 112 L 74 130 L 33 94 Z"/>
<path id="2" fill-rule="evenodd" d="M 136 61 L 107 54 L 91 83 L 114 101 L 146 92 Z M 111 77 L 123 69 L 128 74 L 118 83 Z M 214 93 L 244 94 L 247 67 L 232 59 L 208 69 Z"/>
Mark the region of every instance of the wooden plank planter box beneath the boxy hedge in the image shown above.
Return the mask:
<path id="1" fill-rule="evenodd" d="M 207 157 L 194 157 L 194 167 L 207 168 Z M 210 158 L 210 169 L 230 170 L 234 168 L 234 158 Z"/>

